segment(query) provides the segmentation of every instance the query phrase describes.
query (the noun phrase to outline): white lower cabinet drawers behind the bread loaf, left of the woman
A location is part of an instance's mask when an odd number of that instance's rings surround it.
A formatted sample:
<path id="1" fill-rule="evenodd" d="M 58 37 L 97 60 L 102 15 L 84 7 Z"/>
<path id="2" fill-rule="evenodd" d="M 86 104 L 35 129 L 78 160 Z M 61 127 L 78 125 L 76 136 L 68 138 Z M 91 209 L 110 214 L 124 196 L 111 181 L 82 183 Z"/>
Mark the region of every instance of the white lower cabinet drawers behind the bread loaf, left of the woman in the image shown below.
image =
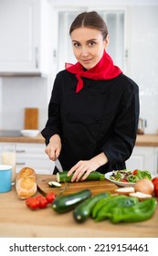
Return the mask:
<path id="1" fill-rule="evenodd" d="M 0 147 L 2 154 L 2 144 Z M 35 169 L 37 174 L 53 173 L 55 165 L 45 153 L 45 144 L 16 144 L 16 173 L 26 166 Z"/>

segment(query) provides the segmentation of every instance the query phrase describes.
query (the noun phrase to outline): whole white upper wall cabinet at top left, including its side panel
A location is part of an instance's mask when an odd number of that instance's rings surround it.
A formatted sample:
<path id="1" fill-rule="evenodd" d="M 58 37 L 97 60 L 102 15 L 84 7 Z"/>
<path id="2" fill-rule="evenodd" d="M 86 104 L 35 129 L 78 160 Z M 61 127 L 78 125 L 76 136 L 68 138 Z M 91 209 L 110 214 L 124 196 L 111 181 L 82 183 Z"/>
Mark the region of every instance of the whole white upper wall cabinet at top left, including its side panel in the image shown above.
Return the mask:
<path id="1" fill-rule="evenodd" d="M 46 0 L 0 1 L 0 73 L 47 73 Z"/>

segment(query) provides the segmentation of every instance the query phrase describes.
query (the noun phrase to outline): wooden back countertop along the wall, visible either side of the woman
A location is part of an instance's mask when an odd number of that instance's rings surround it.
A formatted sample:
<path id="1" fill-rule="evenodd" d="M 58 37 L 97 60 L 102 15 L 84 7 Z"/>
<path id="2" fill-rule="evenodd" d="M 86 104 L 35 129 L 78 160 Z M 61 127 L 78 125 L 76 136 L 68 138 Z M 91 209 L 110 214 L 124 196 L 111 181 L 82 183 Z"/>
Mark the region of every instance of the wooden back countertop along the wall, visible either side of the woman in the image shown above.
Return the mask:
<path id="1" fill-rule="evenodd" d="M 37 137 L 0 137 L 0 143 L 32 143 L 32 144 L 44 144 L 45 139 L 42 135 Z M 158 146 L 158 133 L 156 134 L 143 134 L 137 135 L 137 146 Z"/>

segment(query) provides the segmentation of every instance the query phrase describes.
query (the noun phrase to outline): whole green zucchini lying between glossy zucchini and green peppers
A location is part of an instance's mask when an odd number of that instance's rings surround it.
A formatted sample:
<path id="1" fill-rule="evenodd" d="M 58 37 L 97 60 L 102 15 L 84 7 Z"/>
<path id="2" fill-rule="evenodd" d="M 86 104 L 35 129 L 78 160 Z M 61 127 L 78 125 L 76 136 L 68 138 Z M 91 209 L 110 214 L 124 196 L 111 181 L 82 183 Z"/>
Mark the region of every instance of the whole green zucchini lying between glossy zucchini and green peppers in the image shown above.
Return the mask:
<path id="1" fill-rule="evenodd" d="M 100 193 L 83 201 L 73 211 L 73 217 L 77 222 L 84 222 L 90 217 L 92 208 L 95 204 L 104 197 L 109 197 L 108 193 Z"/>

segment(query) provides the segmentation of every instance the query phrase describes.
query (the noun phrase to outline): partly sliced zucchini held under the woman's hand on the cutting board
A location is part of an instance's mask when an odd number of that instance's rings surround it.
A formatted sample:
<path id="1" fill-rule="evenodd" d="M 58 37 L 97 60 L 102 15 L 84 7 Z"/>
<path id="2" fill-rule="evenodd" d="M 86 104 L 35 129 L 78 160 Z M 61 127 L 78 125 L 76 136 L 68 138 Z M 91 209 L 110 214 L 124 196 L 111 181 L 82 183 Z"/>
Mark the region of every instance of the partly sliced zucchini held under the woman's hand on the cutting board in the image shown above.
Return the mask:
<path id="1" fill-rule="evenodd" d="M 57 181 L 58 182 L 71 182 L 71 176 L 67 176 L 68 171 L 64 171 L 62 173 L 57 173 Z M 90 175 L 86 178 L 86 180 L 104 180 L 105 176 L 100 172 L 91 172 Z"/>

